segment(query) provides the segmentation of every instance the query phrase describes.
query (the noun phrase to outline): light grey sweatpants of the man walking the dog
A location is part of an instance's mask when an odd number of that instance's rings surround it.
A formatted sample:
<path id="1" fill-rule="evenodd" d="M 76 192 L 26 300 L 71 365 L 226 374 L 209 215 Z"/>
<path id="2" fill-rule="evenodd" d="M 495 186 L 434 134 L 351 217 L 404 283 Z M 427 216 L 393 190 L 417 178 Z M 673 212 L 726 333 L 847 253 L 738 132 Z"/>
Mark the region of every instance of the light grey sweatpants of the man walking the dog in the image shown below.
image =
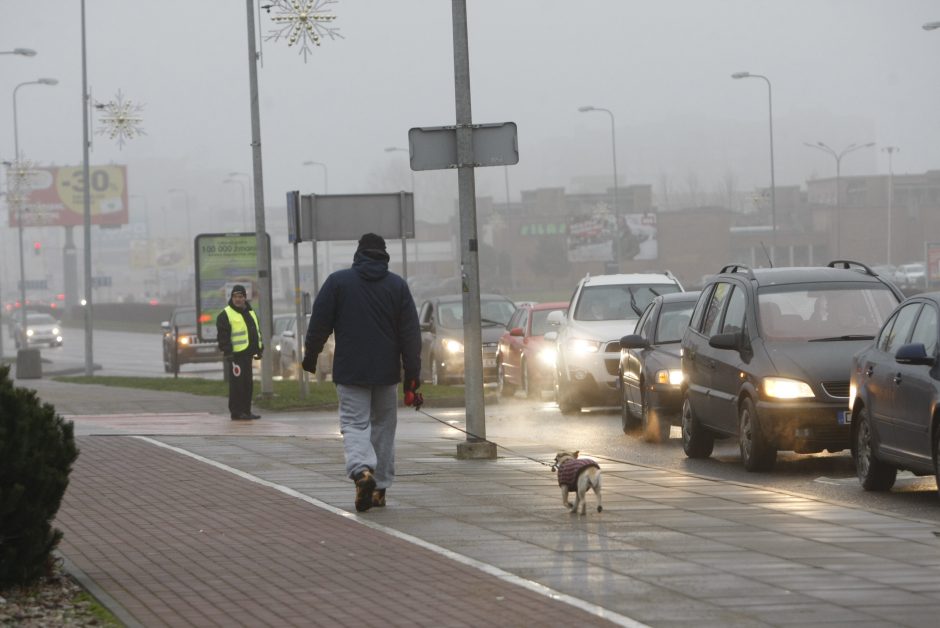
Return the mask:
<path id="1" fill-rule="evenodd" d="M 368 467 L 375 474 L 376 488 L 388 488 L 395 479 L 398 385 L 337 384 L 336 392 L 346 475 L 355 477 Z"/>

